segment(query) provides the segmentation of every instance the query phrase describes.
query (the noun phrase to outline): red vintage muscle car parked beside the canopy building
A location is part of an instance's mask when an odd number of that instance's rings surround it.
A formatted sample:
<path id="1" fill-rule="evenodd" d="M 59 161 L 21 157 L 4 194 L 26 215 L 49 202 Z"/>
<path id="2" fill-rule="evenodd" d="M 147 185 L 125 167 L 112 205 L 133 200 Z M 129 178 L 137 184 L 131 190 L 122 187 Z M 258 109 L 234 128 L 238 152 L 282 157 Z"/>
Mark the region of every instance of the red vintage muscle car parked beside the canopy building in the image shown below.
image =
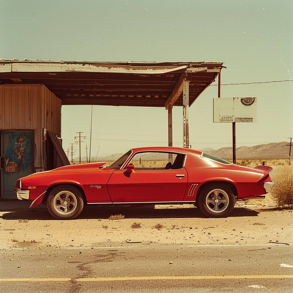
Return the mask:
<path id="1" fill-rule="evenodd" d="M 64 166 L 18 179 L 17 197 L 32 201 L 30 207 L 47 204 L 57 219 L 74 219 L 85 203 L 190 203 L 208 217 L 226 217 L 235 199 L 264 198 L 274 185 L 269 166 L 239 166 L 193 149 L 131 149 L 104 164 Z"/>

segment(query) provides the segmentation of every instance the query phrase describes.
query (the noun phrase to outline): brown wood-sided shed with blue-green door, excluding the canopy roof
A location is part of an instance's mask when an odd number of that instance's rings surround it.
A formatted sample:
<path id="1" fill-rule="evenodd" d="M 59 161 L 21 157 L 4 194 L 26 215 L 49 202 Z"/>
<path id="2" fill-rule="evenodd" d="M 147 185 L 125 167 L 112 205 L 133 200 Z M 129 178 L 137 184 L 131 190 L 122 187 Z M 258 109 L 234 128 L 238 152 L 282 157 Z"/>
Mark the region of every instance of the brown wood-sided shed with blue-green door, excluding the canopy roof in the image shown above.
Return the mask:
<path id="1" fill-rule="evenodd" d="M 48 133 L 61 137 L 61 100 L 43 84 L 0 85 L 2 197 L 15 180 L 62 166 Z"/>

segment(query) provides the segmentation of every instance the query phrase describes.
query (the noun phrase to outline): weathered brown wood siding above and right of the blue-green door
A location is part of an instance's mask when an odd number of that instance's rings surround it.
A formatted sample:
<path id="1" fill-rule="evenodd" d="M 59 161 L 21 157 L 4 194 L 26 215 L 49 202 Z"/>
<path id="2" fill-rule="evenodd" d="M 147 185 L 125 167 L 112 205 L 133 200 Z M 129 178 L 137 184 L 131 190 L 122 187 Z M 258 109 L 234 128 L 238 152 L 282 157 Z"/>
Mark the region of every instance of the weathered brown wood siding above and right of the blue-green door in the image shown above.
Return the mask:
<path id="1" fill-rule="evenodd" d="M 61 136 L 61 100 L 42 84 L 0 85 L 0 131 L 34 130 L 34 167 L 44 168 L 43 128 Z"/>

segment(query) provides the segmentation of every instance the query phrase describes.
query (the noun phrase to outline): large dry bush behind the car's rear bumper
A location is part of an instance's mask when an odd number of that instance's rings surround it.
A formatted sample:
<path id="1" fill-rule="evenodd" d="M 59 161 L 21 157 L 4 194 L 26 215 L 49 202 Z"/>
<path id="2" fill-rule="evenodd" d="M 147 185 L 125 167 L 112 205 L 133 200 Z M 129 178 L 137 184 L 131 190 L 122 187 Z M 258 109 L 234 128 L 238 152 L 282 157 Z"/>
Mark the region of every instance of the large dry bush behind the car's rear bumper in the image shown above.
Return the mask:
<path id="1" fill-rule="evenodd" d="M 293 205 L 293 165 L 284 165 L 275 175 L 274 182 L 270 194 L 277 206 Z"/>

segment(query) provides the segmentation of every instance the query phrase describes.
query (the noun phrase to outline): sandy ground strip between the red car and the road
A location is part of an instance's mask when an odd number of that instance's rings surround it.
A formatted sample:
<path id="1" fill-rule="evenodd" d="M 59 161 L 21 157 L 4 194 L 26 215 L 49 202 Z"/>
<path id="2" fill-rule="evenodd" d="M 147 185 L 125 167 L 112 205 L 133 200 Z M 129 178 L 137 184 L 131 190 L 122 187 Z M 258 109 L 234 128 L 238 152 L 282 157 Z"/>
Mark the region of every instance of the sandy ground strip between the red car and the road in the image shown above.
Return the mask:
<path id="1" fill-rule="evenodd" d="M 133 242 L 293 244 L 292 209 L 276 210 L 262 207 L 267 205 L 264 202 L 256 204 L 251 204 L 251 200 L 239 202 L 231 215 L 222 219 L 206 218 L 193 205 L 87 206 L 74 220 L 56 220 L 42 205 L 34 209 L 6 208 L 0 212 L 0 248 L 123 246 Z M 115 214 L 125 218 L 108 219 Z M 134 222 L 140 223 L 141 228 L 132 229 Z M 156 229 L 156 224 L 163 227 Z"/>

